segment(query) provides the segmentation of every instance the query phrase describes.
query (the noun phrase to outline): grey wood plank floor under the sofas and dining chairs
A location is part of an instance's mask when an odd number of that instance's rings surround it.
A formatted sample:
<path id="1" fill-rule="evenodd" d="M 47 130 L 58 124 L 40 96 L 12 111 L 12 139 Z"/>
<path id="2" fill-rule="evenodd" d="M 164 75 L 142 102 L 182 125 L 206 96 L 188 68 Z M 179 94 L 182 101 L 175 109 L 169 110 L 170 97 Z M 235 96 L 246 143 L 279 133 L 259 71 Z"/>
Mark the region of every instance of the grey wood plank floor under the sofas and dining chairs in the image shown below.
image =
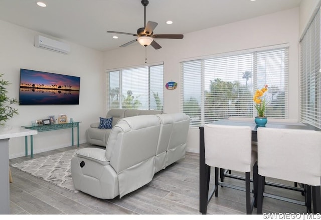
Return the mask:
<path id="1" fill-rule="evenodd" d="M 88 147 L 87 144 L 80 146 Z M 77 148 L 76 146 L 35 154 L 35 158 Z M 10 163 L 30 160 L 30 157 L 11 159 Z M 60 188 L 42 179 L 11 167 L 11 214 L 200 214 L 199 212 L 199 154 L 187 152 L 186 158 L 155 174 L 147 185 L 119 199 L 98 199 L 88 194 Z M 213 176 L 213 175 L 212 175 Z M 211 180 L 212 181 L 212 180 Z M 226 182 L 242 185 L 243 181 L 226 178 Z M 292 184 L 292 183 L 290 183 Z M 211 187 L 211 186 L 210 186 Z M 300 192 L 275 189 L 304 200 Z M 208 205 L 208 214 L 245 214 L 243 191 L 223 187 L 219 196 Z M 305 207 L 272 198 L 264 198 L 265 213 L 305 213 Z M 253 213 L 256 213 L 254 208 Z"/>

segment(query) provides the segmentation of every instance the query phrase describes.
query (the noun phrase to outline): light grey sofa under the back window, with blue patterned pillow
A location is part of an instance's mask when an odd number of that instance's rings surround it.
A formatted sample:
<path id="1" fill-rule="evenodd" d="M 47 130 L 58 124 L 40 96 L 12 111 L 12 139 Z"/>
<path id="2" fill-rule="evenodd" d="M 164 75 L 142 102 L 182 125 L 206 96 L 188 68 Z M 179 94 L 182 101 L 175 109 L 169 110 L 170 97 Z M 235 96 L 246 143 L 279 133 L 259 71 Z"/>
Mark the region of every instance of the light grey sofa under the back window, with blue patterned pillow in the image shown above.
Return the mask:
<path id="1" fill-rule="evenodd" d="M 114 127 L 117 124 L 118 120 L 126 117 L 156 115 L 162 113 L 163 111 L 157 110 L 132 110 L 113 108 L 108 111 L 106 118 L 112 117 L 112 127 Z M 110 132 L 111 129 L 99 129 L 99 122 L 92 123 L 90 125 L 90 128 L 86 130 L 87 143 L 106 147 Z"/>

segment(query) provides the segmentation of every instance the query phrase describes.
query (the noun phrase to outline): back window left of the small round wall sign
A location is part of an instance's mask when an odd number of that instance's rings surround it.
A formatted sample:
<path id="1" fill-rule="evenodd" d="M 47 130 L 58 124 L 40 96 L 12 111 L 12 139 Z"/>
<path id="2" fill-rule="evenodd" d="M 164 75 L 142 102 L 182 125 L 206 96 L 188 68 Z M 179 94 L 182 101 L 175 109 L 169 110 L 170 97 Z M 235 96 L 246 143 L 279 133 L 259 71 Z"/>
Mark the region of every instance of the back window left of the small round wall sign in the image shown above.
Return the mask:
<path id="1" fill-rule="evenodd" d="M 163 110 L 164 65 L 107 72 L 108 109 Z"/>

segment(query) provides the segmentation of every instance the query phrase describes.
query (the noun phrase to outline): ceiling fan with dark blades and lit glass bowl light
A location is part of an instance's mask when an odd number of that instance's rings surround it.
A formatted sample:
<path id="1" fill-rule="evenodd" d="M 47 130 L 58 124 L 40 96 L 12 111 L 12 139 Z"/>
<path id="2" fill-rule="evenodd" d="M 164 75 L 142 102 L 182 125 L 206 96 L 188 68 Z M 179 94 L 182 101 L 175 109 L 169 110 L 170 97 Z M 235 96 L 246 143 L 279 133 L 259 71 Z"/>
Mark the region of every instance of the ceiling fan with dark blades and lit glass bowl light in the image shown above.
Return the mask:
<path id="1" fill-rule="evenodd" d="M 137 29 L 137 34 L 125 33 L 125 32 L 118 32 L 118 31 L 107 31 L 107 33 L 115 33 L 115 34 L 126 34 L 138 37 L 135 40 L 129 41 L 120 47 L 126 47 L 129 44 L 132 44 L 136 41 L 139 42 L 142 46 L 147 47 L 151 45 L 154 49 L 161 49 L 161 45 L 159 45 L 154 39 L 183 39 L 184 35 L 182 34 L 153 34 L 153 30 L 158 25 L 156 22 L 148 21 L 146 24 L 146 6 L 148 5 L 147 0 L 141 0 L 141 4 L 144 7 L 144 27 Z"/>

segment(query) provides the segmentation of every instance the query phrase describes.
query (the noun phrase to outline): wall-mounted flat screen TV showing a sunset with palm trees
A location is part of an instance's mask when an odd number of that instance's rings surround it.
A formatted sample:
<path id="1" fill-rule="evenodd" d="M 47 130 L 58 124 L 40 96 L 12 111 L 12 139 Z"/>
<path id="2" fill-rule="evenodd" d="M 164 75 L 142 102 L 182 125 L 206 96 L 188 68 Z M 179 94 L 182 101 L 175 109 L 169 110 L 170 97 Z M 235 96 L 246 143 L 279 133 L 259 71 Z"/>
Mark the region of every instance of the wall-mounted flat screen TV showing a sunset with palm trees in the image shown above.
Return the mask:
<path id="1" fill-rule="evenodd" d="M 79 104 L 80 77 L 20 69 L 20 105 Z"/>

